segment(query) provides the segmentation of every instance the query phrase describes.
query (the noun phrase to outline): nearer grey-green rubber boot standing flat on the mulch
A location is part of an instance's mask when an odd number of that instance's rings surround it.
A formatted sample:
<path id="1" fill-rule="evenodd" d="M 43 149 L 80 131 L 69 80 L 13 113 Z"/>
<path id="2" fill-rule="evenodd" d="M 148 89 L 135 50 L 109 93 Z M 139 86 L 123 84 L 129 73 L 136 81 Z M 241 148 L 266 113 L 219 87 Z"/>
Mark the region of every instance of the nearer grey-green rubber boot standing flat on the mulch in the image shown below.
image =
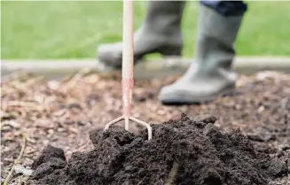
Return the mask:
<path id="1" fill-rule="evenodd" d="M 200 4 L 195 61 L 181 79 L 161 89 L 161 103 L 206 103 L 234 89 L 238 75 L 231 69 L 233 44 L 242 17 L 223 17 Z"/>

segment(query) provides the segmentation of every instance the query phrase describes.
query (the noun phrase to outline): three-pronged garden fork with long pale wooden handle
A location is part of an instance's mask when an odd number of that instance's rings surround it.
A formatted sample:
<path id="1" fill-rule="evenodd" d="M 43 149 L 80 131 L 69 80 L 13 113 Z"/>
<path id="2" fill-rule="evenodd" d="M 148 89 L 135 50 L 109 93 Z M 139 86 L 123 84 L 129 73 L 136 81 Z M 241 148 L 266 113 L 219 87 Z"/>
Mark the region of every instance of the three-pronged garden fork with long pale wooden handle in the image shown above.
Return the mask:
<path id="1" fill-rule="evenodd" d="M 122 66 L 121 66 L 121 89 L 123 115 L 106 124 L 106 131 L 115 123 L 125 120 L 125 129 L 129 130 L 129 120 L 147 127 L 148 140 L 152 139 L 152 127 L 145 121 L 133 118 L 131 113 L 132 90 L 133 90 L 133 1 L 123 0 L 123 47 L 122 47 Z"/>

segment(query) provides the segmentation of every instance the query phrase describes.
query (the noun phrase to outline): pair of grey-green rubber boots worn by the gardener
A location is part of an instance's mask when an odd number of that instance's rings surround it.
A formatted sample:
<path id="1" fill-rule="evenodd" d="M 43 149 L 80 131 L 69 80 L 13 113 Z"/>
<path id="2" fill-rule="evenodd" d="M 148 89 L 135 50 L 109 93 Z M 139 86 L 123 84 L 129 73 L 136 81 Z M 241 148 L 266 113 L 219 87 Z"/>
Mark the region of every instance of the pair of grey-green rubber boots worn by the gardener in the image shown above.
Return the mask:
<path id="1" fill-rule="evenodd" d="M 135 64 L 145 54 L 181 55 L 181 21 L 184 1 L 148 1 L 145 21 L 134 34 Z M 223 17 L 200 4 L 195 59 L 175 83 L 161 89 L 163 104 L 199 104 L 212 101 L 235 87 L 237 74 L 231 69 L 233 44 L 243 16 Z M 121 67 L 121 42 L 98 47 L 98 60 Z"/>

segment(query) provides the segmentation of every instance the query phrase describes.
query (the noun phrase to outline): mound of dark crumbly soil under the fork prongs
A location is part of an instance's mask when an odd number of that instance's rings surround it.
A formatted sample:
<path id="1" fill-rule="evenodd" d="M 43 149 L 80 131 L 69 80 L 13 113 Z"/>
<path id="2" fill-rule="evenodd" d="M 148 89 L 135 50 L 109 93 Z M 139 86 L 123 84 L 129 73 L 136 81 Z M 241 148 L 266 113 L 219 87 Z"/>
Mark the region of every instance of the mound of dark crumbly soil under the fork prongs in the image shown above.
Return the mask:
<path id="1" fill-rule="evenodd" d="M 36 184 L 240 184 L 263 185 L 287 173 L 286 164 L 271 159 L 233 130 L 223 134 L 215 118 L 193 120 L 182 114 L 138 135 L 114 127 L 90 133 L 94 149 L 74 152 L 49 146 L 35 160 Z"/>

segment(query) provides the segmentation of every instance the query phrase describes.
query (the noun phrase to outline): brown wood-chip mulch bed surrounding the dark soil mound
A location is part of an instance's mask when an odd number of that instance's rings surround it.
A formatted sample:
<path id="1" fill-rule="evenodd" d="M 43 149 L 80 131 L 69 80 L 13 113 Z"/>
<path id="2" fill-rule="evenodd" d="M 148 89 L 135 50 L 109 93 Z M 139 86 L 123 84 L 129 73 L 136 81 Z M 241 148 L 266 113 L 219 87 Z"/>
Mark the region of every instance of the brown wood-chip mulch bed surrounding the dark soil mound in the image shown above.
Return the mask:
<path id="1" fill-rule="evenodd" d="M 160 88 L 175 80 L 172 77 L 135 81 L 132 116 L 152 124 L 178 119 L 180 112 L 193 119 L 214 116 L 214 125 L 222 133 L 239 128 L 240 133 L 254 143 L 256 152 L 278 158 L 290 169 L 289 75 L 264 72 L 250 77 L 241 76 L 232 96 L 221 96 L 210 104 L 160 104 L 157 101 Z M 103 128 L 108 121 L 121 115 L 120 81 L 120 73 L 100 76 L 86 72 L 61 81 L 45 81 L 25 73 L 4 81 L 1 108 L 2 181 L 13 160 L 20 154 L 22 135 L 27 140 L 21 158 L 22 166 L 31 166 L 48 144 L 63 149 L 65 158 L 71 158 L 74 151 L 92 150 L 89 132 Z M 130 125 L 130 129 L 137 131 L 141 127 Z M 101 158 L 104 154 L 99 155 Z M 77 159 L 78 156 L 74 154 L 73 158 Z M 172 163 L 169 165 L 172 166 Z M 12 182 L 23 181 L 21 178 L 16 174 Z M 290 181 L 289 178 L 272 183 L 286 184 L 286 181 Z"/>

